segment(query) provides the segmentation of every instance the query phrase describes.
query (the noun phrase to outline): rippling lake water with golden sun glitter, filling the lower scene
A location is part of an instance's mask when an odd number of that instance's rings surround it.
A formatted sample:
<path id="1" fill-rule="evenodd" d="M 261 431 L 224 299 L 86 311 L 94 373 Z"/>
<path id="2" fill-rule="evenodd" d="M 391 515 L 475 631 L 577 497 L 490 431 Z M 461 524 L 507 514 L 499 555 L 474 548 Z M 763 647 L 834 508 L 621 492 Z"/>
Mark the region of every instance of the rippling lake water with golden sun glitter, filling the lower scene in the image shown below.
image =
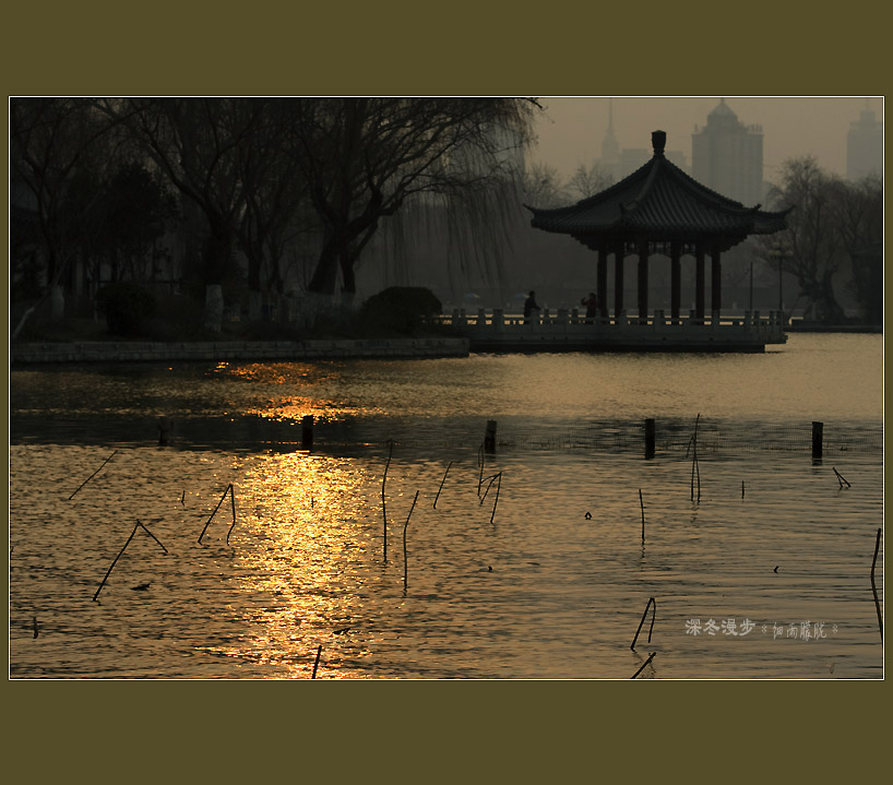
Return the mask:
<path id="1" fill-rule="evenodd" d="M 14 369 L 10 674 L 881 678 L 882 418 L 879 335 Z"/>

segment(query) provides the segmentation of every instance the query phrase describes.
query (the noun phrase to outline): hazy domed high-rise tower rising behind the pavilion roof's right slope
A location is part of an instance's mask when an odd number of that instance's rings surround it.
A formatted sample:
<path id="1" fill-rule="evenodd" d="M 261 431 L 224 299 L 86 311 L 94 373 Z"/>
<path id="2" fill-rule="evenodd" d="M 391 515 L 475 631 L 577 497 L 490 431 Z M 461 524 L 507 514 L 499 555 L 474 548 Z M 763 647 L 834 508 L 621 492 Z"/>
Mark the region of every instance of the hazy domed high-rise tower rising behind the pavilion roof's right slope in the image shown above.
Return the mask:
<path id="1" fill-rule="evenodd" d="M 747 206 L 763 195 L 763 129 L 745 126 L 726 99 L 707 115 L 707 124 L 691 136 L 691 176 L 700 183 Z"/>

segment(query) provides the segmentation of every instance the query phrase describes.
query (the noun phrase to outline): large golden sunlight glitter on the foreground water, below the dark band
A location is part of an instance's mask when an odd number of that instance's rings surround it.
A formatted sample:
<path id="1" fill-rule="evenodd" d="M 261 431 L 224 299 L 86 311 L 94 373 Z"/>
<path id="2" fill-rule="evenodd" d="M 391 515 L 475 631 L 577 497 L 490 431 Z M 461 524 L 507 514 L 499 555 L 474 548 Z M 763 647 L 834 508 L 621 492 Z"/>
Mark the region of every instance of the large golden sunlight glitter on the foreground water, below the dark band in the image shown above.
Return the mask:
<path id="1" fill-rule="evenodd" d="M 309 678 L 322 644 L 320 675 L 348 675 L 338 663 L 368 654 L 344 633 L 364 612 L 364 583 L 376 580 L 368 569 L 373 487 L 350 459 L 294 452 L 247 467 L 236 491 L 245 521 L 234 561 L 241 607 L 230 611 L 260 623 L 254 637 L 216 653 Z"/>

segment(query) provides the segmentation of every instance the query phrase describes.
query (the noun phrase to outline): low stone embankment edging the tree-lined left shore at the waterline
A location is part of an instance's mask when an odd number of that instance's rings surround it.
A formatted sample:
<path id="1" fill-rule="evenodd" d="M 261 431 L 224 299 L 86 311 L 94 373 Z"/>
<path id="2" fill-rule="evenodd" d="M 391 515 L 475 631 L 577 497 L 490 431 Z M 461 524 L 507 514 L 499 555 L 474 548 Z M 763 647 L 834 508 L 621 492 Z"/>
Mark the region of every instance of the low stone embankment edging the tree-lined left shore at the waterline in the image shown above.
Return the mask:
<path id="1" fill-rule="evenodd" d="M 367 338 L 358 341 L 207 341 L 194 343 L 83 342 L 23 343 L 10 346 L 12 364 L 222 360 L 331 360 L 467 357 L 468 340 Z"/>

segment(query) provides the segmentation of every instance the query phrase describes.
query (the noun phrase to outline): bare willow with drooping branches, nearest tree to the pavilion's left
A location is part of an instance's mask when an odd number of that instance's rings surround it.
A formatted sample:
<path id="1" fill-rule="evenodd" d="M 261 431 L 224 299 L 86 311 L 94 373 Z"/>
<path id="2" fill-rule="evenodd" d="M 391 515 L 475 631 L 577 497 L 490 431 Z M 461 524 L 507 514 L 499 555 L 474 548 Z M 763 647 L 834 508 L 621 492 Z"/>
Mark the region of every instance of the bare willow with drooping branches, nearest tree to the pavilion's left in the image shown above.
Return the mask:
<path id="1" fill-rule="evenodd" d="M 360 254 L 409 199 L 437 194 L 479 215 L 468 205 L 485 204 L 504 185 L 537 106 L 525 98 L 298 99 L 287 148 L 322 236 L 309 290 L 332 295 L 341 276 L 353 294 Z"/>

